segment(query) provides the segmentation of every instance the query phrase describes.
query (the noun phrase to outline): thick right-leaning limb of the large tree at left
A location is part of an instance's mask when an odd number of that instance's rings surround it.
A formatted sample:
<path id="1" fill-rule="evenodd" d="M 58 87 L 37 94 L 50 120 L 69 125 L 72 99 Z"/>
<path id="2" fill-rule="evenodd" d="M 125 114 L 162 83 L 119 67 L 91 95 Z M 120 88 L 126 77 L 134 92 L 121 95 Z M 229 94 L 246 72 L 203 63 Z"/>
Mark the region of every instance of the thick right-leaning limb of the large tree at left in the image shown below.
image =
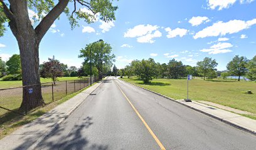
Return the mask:
<path id="1" fill-rule="evenodd" d="M 1 0 L 0 0 L 1 1 Z M 48 29 L 50 29 L 51 24 L 60 16 L 60 14 L 65 10 L 68 5 L 69 0 L 61 0 L 56 4 L 56 6 L 51 9 L 51 11 L 42 19 L 40 24 L 36 26 L 35 31 L 38 40 L 41 41 L 43 36 L 45 36 Z"/>

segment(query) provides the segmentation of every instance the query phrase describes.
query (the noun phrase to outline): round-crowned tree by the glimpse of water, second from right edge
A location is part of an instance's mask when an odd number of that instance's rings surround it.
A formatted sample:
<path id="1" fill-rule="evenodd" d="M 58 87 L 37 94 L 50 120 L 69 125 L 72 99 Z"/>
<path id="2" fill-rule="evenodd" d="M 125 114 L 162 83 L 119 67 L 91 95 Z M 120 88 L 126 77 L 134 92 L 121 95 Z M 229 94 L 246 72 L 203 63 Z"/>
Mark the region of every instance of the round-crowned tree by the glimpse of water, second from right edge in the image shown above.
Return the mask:
<path id="1" fill-rule="evenodd" d="M 232 74 L 233 76 L 238 76 L 238 81 L 240 81 L 240 77 L 244 76 L 248 71 L 246 68 L 247 63 L 247 58 L 236 55 L 232 61 L 227 64 L 228 73 Z"/>

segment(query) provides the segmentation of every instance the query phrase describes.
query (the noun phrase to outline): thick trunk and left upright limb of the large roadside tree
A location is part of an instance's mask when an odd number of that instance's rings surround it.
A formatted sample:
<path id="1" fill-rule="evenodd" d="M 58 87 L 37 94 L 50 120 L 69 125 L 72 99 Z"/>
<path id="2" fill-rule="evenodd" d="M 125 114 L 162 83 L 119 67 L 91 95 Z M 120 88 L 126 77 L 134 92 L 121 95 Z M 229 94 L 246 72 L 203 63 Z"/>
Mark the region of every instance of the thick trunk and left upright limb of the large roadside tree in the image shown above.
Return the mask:
<path id="1" fill-rule="evenodd" d="M 9 26 L 18 41 L 24 86 L 20 109 L 28 111 L 43 104 L 38 56 L 41 39 L 38 39 L 29 20 L 27 2 L 10 1 L 10 3 L 13 18 L 9 22 Z"/>

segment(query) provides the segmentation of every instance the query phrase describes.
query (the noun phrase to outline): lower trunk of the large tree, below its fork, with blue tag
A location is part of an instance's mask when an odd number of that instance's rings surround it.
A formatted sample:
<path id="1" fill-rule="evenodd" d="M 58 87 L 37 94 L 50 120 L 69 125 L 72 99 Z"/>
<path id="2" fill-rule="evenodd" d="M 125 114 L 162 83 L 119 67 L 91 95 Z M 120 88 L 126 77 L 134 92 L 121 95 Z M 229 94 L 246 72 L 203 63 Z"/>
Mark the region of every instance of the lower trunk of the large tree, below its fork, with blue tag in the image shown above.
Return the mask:
<path id="1" fill-rule="evenodd" d="M 43 105 L 39 73 L 39 44 L 30 35 L 19 40 L 23 86 L 23 101 L 20 109 L 31 110 Z M 31 86 L 33 85 L 33 86 Z"/>

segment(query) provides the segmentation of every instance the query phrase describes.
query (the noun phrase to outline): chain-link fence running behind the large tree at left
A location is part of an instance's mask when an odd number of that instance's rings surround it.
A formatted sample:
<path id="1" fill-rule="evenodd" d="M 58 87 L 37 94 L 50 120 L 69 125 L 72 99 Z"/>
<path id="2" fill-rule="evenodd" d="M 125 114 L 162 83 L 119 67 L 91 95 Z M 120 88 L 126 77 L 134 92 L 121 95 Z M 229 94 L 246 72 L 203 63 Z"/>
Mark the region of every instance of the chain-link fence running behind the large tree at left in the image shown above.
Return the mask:
<path id="1" fill-rule="evenodd" d="M 99 81 L 98 77 L 92 78 L 92 84 Z M 39 84 L 38 84 L 39 85 Z M 0 119 L 8 115 L 8 113 L 18 113 L 26 115 L 28 107 L 21 109 L 23 97 L 29 93 L 33 93 L 37 85 L 22 86 L 19 88 L 0 89 Z M 90 78 L 72 80 L 72 81 L 57 81 L 53 83 L 42 83 L 41 94 L 45 104 L 50 104 L 53 101 L 64 98 L 68 94 L 75 93 L 80 89 L 90 86 Z M 23 88 L 28 91 L 28 94 L 23 93 Z"/>

